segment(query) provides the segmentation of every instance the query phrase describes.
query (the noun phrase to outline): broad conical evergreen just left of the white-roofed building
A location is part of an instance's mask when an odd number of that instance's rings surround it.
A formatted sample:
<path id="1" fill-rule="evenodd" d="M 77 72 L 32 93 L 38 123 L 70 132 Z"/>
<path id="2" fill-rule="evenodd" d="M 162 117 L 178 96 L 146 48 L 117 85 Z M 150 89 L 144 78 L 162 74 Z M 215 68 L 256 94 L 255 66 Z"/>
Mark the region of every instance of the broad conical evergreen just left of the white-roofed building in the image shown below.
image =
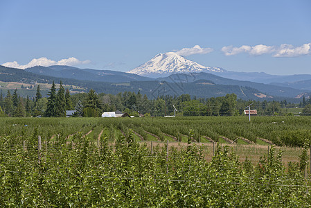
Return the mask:
<path id="1" fill-rule="evenodd" d="M 83 116 L 98 117 L 100 116 L 101 108 L 102 106 L 98 98 L 98 95 L 96 94 L 94 89 L 91 89 L 87 94 L 85 105 L 83 106 Z"/>

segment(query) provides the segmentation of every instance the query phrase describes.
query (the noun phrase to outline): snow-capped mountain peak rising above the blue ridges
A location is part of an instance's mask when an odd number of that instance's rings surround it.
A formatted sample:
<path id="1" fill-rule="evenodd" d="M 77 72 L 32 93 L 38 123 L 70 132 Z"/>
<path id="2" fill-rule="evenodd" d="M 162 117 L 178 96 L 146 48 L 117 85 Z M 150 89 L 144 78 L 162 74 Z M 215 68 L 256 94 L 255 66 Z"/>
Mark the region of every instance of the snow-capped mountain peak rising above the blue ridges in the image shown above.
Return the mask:
<path id="1" fill-rule="evenodd" d="M 169 76 L 172 73 L 195 73 L 195 72 L 222 72 L 225 71 L 219 67 L 204 67 L 196 62 L 187 60 L 183 56 L 174 52 L 159 53 L 148 62 L 139 67 L 127 71 L 140 76 L 158 78 Z"/>

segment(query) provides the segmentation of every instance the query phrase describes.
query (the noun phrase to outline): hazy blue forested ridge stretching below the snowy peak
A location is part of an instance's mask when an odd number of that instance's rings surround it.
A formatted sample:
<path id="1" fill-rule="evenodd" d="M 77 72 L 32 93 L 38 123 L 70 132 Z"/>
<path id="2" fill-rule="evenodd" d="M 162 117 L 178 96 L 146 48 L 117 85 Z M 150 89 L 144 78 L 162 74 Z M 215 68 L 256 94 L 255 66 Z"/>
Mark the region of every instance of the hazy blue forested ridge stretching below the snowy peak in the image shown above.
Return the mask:
<path id="1" fill-rule="evenodd" d="M 64 66 L 62 66 L 64 67 Z M 60 66 L 55 66 L 54 69 L 47 69 L 47 67 L 33 67 L 33 70 L 46 70 L 48 72 L 60 72 L 65 69 L 61 69 Z M 65 67 L 67 69 L 67 67 Z M 71 70 L 78 68 L 68 67 Z M 37 71 L 37 73 L 39 73 Z M 66 70 L 65 70 L 66 71 Z M 70 70 L 69 70 L 70 71 Z M 78 70 L 80 71 L 80 70 Z M 71 71 L 72 72 L 72 71 Z M 85 69 L 82 71 L 84 73 L 114 73 L 116 78 L 118 78 L 118 73 L 121 73 L 122 78 L 127 73 L 119 71 L 96 71 L 96 69 Z M 202 98 L 208 98 L 211 96 L 222 96 L 228 93 L 234 93 L 238 95 L 238 98 L 243 99 L 258 99 L 258 100 L 281 100 L 284 98 L 294 98 L 299 94 L 303 94 L 305 90 L 292 89 L 290 87 L 281 87 L 274 85 L 264 85 L 260 83 L 252 83 L 248 81 L 231 80 L 228 78 L 222 78 L 220 76 L 215 76 L 211 73 L 177 73 L 172 74 L 166 78 L 158 78 L 154 80 L 148 78 L 149 80 L 138 80 L 130 82 L 100 82 L 94 80 L 78 80 L 73 78 L 60 78 L 54 76 L 45 76 L 37 73 L 31 73 L 27 70 L 14 69 L 0 66 L 0 80 L 7 82 L 19 82 L 19 83 L 59 83 L 60 80 L 66 85 L 76 85 L 86 88 L 86 92 L 89 89 L 94 89 L 98 93 L 107 94 L 117 94 L 118 92 L 139 92 L 142 94 L 147 94 L 149 98 L 152 98 L 155 94 L 170 94 L 180 95 L 180 94 L 190 94 L 191 96 L 197 96 Z M 44 72 L 46 73 L 46 72 Z M 59 75 L 58 75 L 59 76 Z M 136 76 L 136 75 L 133 75 Z M 140 77 L 140 76 L 139 76 Z M 256 96 L 259 94 L 259 97 Z"/>

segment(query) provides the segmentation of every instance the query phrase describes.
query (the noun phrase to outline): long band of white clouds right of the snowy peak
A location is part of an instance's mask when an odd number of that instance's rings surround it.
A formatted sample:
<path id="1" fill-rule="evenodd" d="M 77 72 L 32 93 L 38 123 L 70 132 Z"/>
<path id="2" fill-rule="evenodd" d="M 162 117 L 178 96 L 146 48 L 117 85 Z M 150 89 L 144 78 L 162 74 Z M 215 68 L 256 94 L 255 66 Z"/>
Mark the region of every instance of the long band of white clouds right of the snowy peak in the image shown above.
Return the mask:
<path id="1" fill-rule="evenodd" d="M 240 47 L 224 46 L 222 52 L 224 52 L 224 55 L 236 55 L 238 53 L 263 55 L 272 53 L 273 57 L 296 57 L 311 54 L 311 43 L 296 47 L 291 44 L 282 44 L 281 46 L 266 46 L 263 44 L 256 46 L 243 45 Z"/>

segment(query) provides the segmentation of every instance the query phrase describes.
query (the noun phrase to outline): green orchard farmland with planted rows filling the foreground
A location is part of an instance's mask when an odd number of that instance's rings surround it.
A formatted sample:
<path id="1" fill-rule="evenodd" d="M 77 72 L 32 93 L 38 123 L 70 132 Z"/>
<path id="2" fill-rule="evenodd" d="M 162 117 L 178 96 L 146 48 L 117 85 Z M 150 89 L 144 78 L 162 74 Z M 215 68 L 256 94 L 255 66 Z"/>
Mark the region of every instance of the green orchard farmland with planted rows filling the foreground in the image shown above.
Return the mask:
<path id="1" fill-rule="evenodd" d="M 308 207 L 310 121 L 1 118 L 0 206 Z"/>

